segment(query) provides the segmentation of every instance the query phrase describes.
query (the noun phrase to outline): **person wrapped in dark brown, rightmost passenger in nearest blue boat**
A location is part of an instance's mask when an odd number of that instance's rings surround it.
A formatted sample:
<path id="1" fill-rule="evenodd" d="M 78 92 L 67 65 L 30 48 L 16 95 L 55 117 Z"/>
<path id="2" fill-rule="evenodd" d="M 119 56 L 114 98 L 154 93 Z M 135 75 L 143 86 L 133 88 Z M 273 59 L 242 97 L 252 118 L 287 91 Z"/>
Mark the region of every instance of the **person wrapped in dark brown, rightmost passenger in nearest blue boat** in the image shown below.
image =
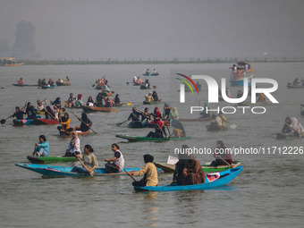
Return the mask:
<path id="1" fill-rule="evenodd" d="M 182 170 L 182 182 L 185 185 L 199 184 L 205 182 L 205 173 L 193 154 L 188 155 L 184 169 Z"/>

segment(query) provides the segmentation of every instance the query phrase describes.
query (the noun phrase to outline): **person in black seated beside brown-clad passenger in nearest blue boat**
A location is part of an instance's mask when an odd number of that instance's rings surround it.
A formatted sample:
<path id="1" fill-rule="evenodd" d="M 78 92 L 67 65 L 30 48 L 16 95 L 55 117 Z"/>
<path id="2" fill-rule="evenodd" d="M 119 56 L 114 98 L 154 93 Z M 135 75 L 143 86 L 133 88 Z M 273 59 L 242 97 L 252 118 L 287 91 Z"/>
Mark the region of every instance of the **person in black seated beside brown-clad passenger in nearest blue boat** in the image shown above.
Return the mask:
<path id="1" fill-rule="evenodd" d="M 176 182 L 178 185 L 185 185 L 185 178 L 182 172 L 188 159 L 188 148 L 188 145 L 182 145 L 182 153 L 178 154 L 179 161 L 175 164 L 173 182 Z"/>

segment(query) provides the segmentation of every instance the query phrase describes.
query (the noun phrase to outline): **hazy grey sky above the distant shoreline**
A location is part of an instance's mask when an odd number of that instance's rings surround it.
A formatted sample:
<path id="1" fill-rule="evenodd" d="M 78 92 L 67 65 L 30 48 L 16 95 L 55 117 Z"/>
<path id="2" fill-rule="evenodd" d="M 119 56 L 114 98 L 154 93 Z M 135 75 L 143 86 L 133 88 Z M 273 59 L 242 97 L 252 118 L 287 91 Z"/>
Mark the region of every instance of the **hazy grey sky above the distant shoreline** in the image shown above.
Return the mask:
<path id="1" fill-rule="evenodd" d="M 303 0 L 0 0 L 0 40 L 42 58 L 304 57 Z"/>

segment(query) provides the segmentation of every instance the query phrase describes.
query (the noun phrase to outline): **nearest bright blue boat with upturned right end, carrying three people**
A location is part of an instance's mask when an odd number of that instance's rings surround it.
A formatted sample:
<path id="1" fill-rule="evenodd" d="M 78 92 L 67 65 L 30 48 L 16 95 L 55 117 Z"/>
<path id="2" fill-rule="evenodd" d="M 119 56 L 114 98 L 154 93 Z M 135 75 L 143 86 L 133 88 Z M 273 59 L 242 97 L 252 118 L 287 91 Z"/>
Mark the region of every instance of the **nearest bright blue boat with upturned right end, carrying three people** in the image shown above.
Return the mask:
<path id="1" fill-rule="evenodd" d="M 220 173 L 208 173 L 205 178 L 205 183 L 194 185 L 165 185 L 165 186 L 145 186 L 134 187 L 134 190 L 148 190 L 148 191 L 173 191 L 173 190 L 208 190 L 217 187 L 221 187 L 231 182 L 239 173 L 241 173 L 243 167 L 235 167 L 229 170 L 225 170 Z M 211 174 L 211 175 L 210 175 Z"/>

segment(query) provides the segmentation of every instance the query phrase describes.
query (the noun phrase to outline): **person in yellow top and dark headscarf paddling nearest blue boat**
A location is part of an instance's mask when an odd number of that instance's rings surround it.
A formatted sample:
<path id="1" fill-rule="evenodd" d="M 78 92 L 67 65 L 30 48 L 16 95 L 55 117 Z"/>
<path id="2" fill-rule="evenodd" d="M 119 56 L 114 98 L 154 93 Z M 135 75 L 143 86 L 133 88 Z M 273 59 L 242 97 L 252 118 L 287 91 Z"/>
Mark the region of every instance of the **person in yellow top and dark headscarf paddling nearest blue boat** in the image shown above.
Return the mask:
<path id="1" fill-rule="evenodd" d="M 144 177 L 139 182 L 132 182 L 133 186 L 157 186 L 157 169 L 156 165 L 153 164 L 153 160 L 153 156 L 144 155 L 145 166 L 139 171 L 132 171 L 128 173 L 130 176 L 144 175 Z"/>

